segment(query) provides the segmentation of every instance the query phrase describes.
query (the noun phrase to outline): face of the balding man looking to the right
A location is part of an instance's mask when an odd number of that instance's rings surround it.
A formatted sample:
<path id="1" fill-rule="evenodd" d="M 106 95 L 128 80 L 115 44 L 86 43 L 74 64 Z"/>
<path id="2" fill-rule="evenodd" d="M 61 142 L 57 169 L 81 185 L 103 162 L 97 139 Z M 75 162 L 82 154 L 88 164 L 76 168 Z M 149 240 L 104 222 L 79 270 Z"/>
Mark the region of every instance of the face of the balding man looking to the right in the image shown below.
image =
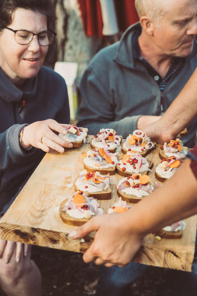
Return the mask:
<path id="1" fill-rule="evenodd" d="M 167 0 L 168 11 L 157 20 L 153 42 L 161 54 L 187 57 L 197 34 L 196 0 Z"/>

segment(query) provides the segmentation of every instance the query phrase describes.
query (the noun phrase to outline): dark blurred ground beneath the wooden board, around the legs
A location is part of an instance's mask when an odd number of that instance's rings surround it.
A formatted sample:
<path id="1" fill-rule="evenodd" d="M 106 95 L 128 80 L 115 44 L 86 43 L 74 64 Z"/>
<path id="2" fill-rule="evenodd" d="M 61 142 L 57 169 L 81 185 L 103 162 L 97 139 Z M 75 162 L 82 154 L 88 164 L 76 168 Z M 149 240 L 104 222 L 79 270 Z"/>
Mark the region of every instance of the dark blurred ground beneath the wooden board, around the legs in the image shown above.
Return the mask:
<path id="1" fill-rule="evenodd" d="M 99 268 L 86 264 L 82 254 L 33 246 L 32 259 L 40 268 L 43 296 L 95 295 Z M 152 271 L 131 284 L 133 296 L 159 295 L 159 287 L 165 282 L 166 270 Z M 158 294 L 159 293 L 159 294 Z M 6 296 L 0 289 L 0 296 Z"/>

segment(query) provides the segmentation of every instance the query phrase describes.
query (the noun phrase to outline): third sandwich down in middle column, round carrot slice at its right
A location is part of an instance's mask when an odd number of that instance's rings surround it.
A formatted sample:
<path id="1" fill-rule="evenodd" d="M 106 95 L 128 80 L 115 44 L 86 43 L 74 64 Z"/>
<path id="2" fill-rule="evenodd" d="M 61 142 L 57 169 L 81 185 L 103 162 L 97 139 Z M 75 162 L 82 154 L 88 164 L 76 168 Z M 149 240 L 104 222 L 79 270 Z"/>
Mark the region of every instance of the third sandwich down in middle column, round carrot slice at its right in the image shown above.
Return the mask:
<path id="1" fill-rule="evenodd" d="M 137 203 L 156 188 L 149 176 L 133 174 L 118 182 L 117 193 L 128 203 Z"/>

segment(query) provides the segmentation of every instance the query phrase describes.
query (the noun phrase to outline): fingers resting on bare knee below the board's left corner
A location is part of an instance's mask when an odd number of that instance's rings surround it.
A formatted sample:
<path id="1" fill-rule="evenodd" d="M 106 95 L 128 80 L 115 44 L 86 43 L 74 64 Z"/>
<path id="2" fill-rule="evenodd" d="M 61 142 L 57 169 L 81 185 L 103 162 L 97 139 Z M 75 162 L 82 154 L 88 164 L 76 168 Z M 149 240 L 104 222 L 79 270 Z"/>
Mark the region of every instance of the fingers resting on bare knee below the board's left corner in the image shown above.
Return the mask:
<path id="1" fill-rule="evenodd" d="M 0 258 L 3 257 L 5 263 L 9 263 L 13 255 L 13 250 L 15 245 L 16 245 L 15 260 L 17 263 L 20 261 L 22 253 L 24 256 L 26 256 L 28 248 L 31 247 L 28 244 L 22 244 L 20 242 L 11 242 L 11 241 L 6 241 L 4 239 L 0 239 Z"/>

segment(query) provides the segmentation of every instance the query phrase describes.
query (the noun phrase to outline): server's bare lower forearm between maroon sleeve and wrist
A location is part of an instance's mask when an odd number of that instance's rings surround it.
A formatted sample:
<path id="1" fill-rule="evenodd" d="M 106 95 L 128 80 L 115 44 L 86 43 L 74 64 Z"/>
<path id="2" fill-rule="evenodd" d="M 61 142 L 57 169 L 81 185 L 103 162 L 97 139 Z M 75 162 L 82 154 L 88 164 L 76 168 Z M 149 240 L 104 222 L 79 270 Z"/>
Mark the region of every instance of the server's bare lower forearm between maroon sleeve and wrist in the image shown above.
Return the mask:
<path id="1" fill-rule="evenodd" d="M 143 235 L 162 229 L 197 213 L 196 192 L 197 181 L 187 160 L 163 186 L 128 210 L 126 221 Z"/>

